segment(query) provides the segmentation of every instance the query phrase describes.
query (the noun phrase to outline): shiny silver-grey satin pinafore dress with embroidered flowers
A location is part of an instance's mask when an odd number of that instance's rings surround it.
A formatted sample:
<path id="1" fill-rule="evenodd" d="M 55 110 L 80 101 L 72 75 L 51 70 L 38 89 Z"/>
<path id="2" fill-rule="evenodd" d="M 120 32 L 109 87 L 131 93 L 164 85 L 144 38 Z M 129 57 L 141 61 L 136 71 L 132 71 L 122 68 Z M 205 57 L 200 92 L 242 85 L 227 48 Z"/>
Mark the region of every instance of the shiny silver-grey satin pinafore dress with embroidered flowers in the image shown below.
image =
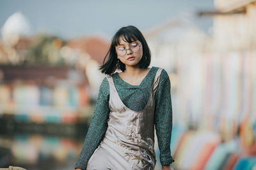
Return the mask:
<path id="1" fill-rule="evenodd" d="M 110 109 L 108 129 L 88 160 L 86 170 L 154 169 L 154 96 L 162 70 L 157 70 L 148 103 L 141 111 L 133 111 L 125 106 L 118 96 L 112 76 L 107 76 Z"/>

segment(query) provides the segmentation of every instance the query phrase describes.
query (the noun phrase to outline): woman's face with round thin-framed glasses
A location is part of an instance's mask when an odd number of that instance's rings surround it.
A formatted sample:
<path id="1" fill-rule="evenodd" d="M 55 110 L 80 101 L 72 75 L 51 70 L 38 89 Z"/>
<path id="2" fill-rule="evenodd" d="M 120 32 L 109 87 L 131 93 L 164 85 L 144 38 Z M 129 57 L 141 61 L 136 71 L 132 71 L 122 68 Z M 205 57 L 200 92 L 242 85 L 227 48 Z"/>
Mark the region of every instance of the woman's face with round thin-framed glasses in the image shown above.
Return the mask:
<path id="1" fill-rule="evenodd" d="M 119 44 L 120 45 L 116 46 L 117 58 L 120 59 L 125 66 L 137 67 L 143 55 L 141 42 L 137 40 L 128 43 L 125 41 L 125 38 L 121 36 L 119 38 Z"/>

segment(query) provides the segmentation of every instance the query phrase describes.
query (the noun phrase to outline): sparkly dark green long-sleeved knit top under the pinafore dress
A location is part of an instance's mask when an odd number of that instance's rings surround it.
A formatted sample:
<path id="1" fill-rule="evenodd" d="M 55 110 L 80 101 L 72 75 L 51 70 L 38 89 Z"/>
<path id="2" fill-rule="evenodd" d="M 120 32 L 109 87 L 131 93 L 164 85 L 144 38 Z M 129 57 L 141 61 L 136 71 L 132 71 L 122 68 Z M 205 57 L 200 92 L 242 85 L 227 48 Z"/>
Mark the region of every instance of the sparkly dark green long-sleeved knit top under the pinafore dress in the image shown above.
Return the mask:
<path id="1" fill-rule="evenodd" d="M 159 69 L 159 67 L 153 66 L 140 85 L 131 85 L 122 80 L 118 73 L 112 74 L 118 95 L 125 106 L 134 111 L 141 111 L 145 108 L 157 69 Z M 172 100 L 170 94 L 170 78 L 164 69 L 160 75 L 155 102 L 154 124 L 160 150 L 160 162 L 161 165 L 170 165 L 174 162 L 170 150 L 170 140 L 172 136 Z M 109 83 L 105 77 L 100 84 L 92 120 L 75 168 L 86 169 L 88 160 L 102 141 L 108 128 L 108 118 Z"/>

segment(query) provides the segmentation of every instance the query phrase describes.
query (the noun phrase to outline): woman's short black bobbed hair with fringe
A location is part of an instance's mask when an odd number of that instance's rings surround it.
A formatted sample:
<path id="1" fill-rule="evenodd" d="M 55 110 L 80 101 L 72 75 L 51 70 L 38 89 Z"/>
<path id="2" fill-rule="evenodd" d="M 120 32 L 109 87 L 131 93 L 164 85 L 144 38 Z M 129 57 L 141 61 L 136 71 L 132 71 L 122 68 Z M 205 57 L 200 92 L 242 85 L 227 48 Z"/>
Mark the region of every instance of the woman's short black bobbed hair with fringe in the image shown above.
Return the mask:
<path id="1" fill-rule="evenodd" d="M 115 46 L 120 45 L 119 38 L 124 36 L 124 40 L 127 41 L 128 43 L 132 43 L 132 41 L 140 41 L 142 44 L 142 49 L 143 49 L 143 55 L 140 60 L 139 67 L 140 68 L 147 68 L 150 65 L 151 61 L 151 53 L 150 49 L 148 48 L 147 41 L 145 40 L 144 36 L 141 34 L 140 30 L 137 29 L 136 27 L 129 25 L 127 27 L 122 27 L 120 28 L 113 38 L 111 39 L 111 45 L 109 47 L 108 53 L 104 57 L 102 66 L 100 66 L 99 69 L 101 69 L 102 73 L 105 74 L 111 74 L 114 73 L 117 66 L 118 58 L 116 54 L 116 48 Z M 105 60 L 108 58 L 108 60 L 105 62 Z M 123 64 L 121 61 L 119 68 L 122 71 L 125 71 L 125 64 Z"/>

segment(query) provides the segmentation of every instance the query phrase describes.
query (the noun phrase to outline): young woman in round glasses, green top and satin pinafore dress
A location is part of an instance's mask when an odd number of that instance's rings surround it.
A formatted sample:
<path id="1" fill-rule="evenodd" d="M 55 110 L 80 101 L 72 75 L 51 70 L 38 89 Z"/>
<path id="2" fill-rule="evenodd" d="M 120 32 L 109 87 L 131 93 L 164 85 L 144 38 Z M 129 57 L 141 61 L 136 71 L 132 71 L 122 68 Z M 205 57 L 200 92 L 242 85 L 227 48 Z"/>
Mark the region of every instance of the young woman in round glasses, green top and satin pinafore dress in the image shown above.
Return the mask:
<path id="1" fill-rule="evenodd" d="M 76 169 L 154 169 L 154 126 L 162 169 L 172 169 L 170 79 L 163 68 L 148 67 L 150 59 L 136 27 L 122 27 L 113 36 Z"/>

